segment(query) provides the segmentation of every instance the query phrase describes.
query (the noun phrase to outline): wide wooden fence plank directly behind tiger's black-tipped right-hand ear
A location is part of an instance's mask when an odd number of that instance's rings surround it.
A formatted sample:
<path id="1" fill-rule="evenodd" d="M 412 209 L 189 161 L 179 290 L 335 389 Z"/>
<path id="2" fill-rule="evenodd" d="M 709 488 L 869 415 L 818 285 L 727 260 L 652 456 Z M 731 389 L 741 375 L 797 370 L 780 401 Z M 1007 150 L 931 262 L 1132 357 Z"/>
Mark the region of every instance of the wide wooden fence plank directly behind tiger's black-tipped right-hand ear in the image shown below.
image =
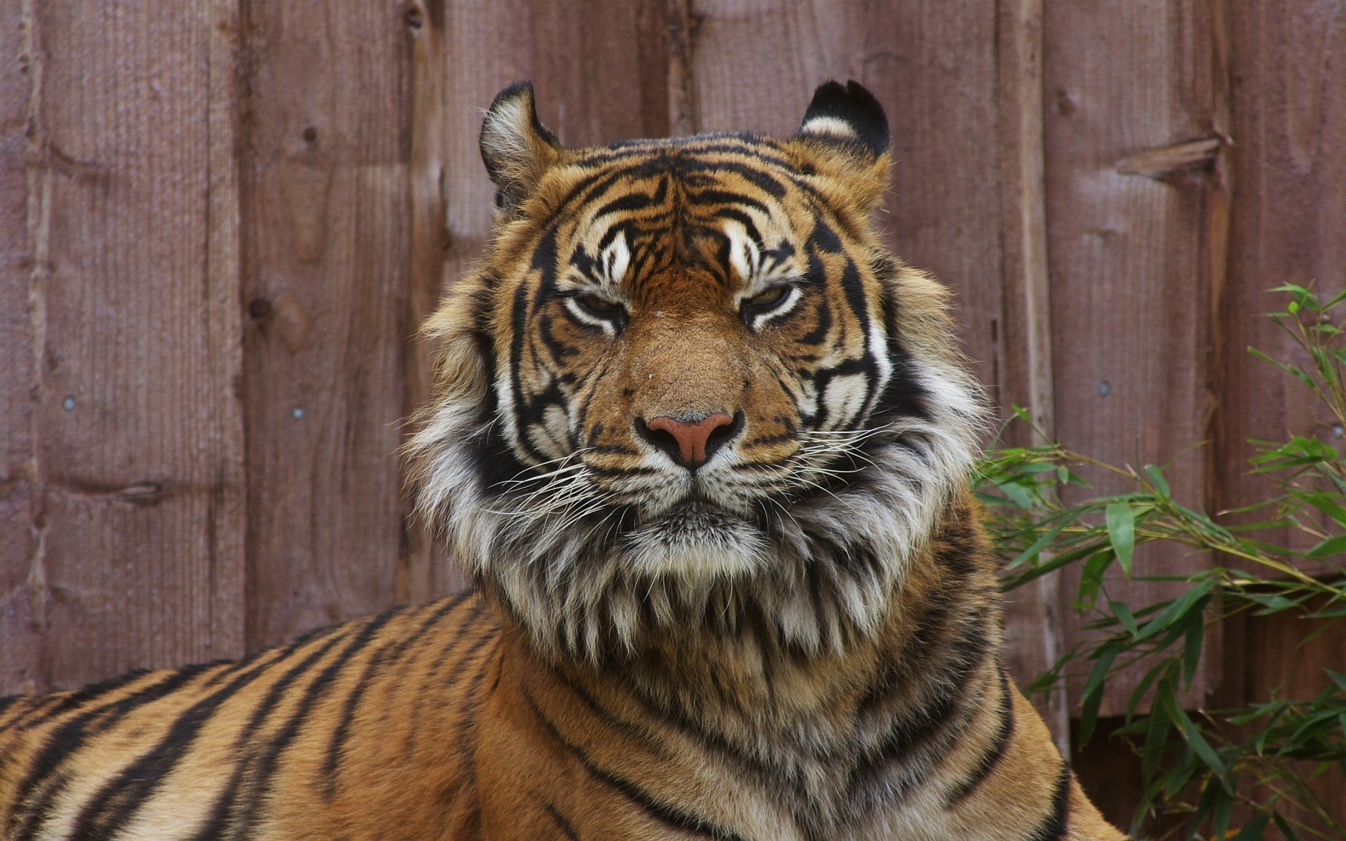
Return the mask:
<path id="1" fill-rule="evenodd" d="M 1034 408 L 1050 431 L 1040 3 L 697 9 L 699 128 L 790 133 L 813 87 L 833 77 L 879 97 L 894 132 L 879 219 L 890 244 L 956 291 L 964 347 L 992 397 Z M 1061 635 L 1054 577 L 1007 599 L 1018 680 L 1055 662 Z M 1065 741 L 1065 696 L 1050 702 L 1043 712 Z"/>

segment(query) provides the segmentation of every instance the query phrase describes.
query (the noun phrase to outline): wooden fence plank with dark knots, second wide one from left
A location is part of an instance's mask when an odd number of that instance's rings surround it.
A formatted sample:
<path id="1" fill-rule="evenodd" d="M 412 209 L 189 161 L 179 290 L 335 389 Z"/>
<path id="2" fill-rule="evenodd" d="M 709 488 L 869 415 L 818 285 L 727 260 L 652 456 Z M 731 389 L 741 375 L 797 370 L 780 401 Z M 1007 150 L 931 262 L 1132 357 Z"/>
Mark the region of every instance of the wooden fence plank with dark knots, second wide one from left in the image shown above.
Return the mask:
<path id="1" fill-rule="evenodd" d="M 406 26 L 400 4 L 249 4 L 249 649 L 397 595 Z"/>

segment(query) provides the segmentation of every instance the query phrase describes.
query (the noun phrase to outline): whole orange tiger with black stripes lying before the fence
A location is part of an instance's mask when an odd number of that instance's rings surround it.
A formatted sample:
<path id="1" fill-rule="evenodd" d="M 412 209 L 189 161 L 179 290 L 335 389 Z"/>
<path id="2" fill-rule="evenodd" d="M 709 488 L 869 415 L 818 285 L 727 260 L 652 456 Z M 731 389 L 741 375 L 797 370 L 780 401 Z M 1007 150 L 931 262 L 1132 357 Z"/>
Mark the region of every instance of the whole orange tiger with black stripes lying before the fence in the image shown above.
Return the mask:
<path id="1" fill-rule="evenodd" d="M 481 132 L 491 242 L 406 445 L 468 592 L 0 701 L 0 837 L 1112 840 L 1001 659 L 948 291 L 888 120 Z"/>

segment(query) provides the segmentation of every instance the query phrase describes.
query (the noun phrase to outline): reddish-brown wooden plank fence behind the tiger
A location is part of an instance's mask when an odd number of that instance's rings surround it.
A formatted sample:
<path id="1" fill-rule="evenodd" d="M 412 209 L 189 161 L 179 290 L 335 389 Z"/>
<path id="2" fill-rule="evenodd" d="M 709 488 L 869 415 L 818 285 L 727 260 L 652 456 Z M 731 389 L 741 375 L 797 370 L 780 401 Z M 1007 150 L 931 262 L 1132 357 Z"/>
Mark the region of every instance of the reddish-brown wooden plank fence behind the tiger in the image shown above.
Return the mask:
<path id="1" fill-rule="evenodd" d="M 1172 484 L 1236 506 L 1249 437 L 1322 432 L 1245 347 L 1285 350 L 1268 287 L 1346 283 L 1343 73 L 1341 3 L 11 0 L 0 693 L 456 585 L 394 451 L 416 326 L 489 234 L 482 109 L 517 78 L 572 145 L 791 132 L 814 85 L 860 79 L 892 121 L 890 241 L 957 291 L 999 404 L 1114 462 L 1210 440 Z M 1020 675 L 1077 638 L 1070 589 L 1016 593 Z M 1346 657 L 1292 639 L 1211 639 L 1193 702 Z"/>

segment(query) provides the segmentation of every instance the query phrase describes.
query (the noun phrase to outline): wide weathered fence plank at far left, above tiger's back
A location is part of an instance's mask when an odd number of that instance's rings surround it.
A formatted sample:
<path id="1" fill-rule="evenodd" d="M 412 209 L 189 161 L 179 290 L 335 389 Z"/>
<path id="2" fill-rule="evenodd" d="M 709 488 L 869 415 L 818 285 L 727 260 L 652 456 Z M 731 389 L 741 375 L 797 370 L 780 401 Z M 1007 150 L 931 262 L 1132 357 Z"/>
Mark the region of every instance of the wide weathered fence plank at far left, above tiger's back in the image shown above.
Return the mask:
<path id="1" fill-rule="evenodd" d="M 28 455 L 5 507 L 31 519 L 12 523 L 27 592 L 5 581 L 0 624 L 5 650 L 13 641 L 40 666 L 7 662 L 5 680 L 70 686 L 237 655 L 238 277 L 223 258 L 232 227 L 213 217 L 230 209 L 219 153 L 233 141 L 227 117 L 201 118 L 230 96 L 233 51 L 215 26 L 232 12 L 20 13 L 27 241 L 13 262 L 30 346 L 15 362 L 32 402 L 13 406 L 28 414 Z"/>

